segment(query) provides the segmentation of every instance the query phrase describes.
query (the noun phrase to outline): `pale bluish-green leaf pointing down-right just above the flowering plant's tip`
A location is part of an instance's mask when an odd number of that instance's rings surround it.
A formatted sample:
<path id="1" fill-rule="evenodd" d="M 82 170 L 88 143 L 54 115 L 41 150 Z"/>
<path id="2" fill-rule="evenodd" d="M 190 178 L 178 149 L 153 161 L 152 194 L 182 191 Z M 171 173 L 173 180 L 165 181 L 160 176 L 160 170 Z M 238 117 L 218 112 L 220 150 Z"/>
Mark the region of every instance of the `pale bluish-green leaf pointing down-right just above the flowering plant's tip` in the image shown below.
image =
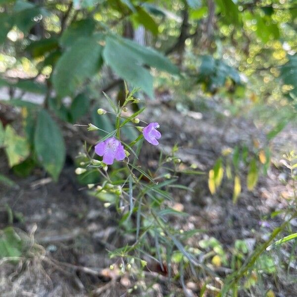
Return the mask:
<path id="1" fill-rule="evenodd" d="M 114 38 L 107 38 L 103 57 L 117 75 L 127 80 L 134 87 L 142 88 L 149 97 L 153 97 L 150 73 L 140 65 L 140 59 L 125 44 Z"/>

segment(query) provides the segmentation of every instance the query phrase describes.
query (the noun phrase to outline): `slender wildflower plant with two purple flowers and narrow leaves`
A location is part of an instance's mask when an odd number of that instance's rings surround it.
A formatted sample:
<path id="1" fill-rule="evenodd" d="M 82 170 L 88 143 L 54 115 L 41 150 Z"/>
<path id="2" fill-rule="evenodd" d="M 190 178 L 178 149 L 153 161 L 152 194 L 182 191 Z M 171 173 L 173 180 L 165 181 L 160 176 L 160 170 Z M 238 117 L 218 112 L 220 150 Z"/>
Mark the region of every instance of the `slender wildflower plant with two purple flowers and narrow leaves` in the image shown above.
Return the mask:
<path id="1" fill-rule="evenodd" d="M 119 226 L 124 234 L 130 233 L 134 238 L 129 244 L 115 250 L 109 250 L 110 258 L 114 259 L 113 269 L 118 267 L 122 273 L 125 271 L 140 272 L 152 259 L 163 274 L 172 275 L 172 261 L 179 262 L 182 269 L 179 277 L 183 279 L 184 266 L 199 266 L 196 257 L 197 249 L 185 247 L 182 243 L 198 230 L 184 231 L 175 228 L 169 223 L 169 217 L 185 216 L 186 213 L 170 207 L 173 198 L 170 194 L 172 188 L 188 190 L 177 185 L 177 173 L 180 171 L 181 160 L 175 156 L 177 147 L 171 154 L 164 156 L 160 153 L 157 168 L 154 173 L 145 171 L 141 166 L 140 155 L 144 140 L 151 146 L 157 146 L 162 141 L 158 131 L 158 123 L 146 123 L 138 118 L 144 107 L 131 116 L 123 116 L 133 103 L 139 103 L 126 88 L 126 99 L 122 106 L 115 103 L 106 95 L 112 110 L 99 108 L 98 116 L 106 113 L 115 117 L 115 129 L 99 140 L 96 146 L 87 148 L 79 160 L 84 167 L 77 169 L 77 173 L 88 175 L 97 171 L 101 177 L 98 184 L 88 185 L 91 195 L 103 201 L 105 207 L 113 206 L 119 214 Z M 139 136 L 127 144 L 122 138 L 122 128 L 133 126 Z M 161 128 L 161 127 L 160 127 Z M 101 130 L 89 124 L 88 130 Z M 102 131 L 102 130 L 101 130 Z M 124 136 L 124 135 L 123 135 Z M 198 171 L 196 172 L 198 173 Z M 129 237 L 130 238 L 130 237 Z M 179 255 L 176 261 L 176 255 Z M 183 281 L 182 281 L 183 283 Z"/>

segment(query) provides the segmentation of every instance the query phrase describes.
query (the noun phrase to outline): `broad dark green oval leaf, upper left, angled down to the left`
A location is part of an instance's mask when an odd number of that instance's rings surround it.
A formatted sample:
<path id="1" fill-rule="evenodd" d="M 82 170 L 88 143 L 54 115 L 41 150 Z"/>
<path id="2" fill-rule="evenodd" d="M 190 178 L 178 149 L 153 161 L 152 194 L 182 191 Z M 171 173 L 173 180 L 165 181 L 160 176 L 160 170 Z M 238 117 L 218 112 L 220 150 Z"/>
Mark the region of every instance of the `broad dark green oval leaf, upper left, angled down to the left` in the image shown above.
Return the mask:
<path id="1" fill-rule="evenodd" d="M 59 97 L 70 96 L 99 70 L 102 47 L 91 37 L 82 37 L 59 58 L 52 83 Z"/>

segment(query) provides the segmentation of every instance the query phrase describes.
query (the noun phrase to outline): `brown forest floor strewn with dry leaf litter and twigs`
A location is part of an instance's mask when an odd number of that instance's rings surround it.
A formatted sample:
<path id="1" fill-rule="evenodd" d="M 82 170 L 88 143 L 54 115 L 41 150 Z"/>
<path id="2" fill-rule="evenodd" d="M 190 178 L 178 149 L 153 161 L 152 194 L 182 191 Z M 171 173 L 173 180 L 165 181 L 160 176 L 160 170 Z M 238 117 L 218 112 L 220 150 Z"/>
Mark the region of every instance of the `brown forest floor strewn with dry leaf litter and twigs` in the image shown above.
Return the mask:
<path id="1" fill-rule="evenodd" d="M 207 172 L 223 148 L 233 148 L 239 143 L 252 147 L 254 140 L 261 142 L 265 136 L 251 119 L 225 116 L 216 102 L 210 104 L 211 108 L 201 112 L 182 114 L 159 101 L 149 103 L 143 119 L 159 122 L 162 139 L 159 148 L 145 145 L 141 159 L 154 167 L 159 151 L 168 153 L 177 144 L 180 147 L 177 155 L 185 166 L 195 163 L 199 170 L 206 172 L 205 175 L 180 176 L 178 183 L 193 191 L 176 191 L 175 203 L 190 216 L 173 223 L 179 229 L 206 230 L 193 237 L 192 246 L 198 247 L 199 240 L 214 237 L 230 254 L 236 240 L 246 240 L 252 249 L 282 222 L 280 216 L 273 219 L 270 216 L 273 211 L 286 208 L 287 198 L 292 195 L 290 183 L 283 182 L 289 179 L 288 169 L 279 160 L 285 149 L 297 148 L 297 133 L 288 125 L 277 135 L 268 175 L 260 176 L 252 192 L 243 186 L 238 203 L 233 204 L 232 183 L 223 182 L 220 191 L 211 196 Z M 69 153 L 58 183 L 52 182 L 39 168 L 27 178 L 18 178 L 7 167 L 5 156 L 0 154 L 1 174 L 18 185 L 17 189 L 0 187 L 0 229 L 8 225 L 5 206 L 8 205 L 14 214 L 16 230 L 31 236 L 41 246 L 18 265 L 9 262 L 0 265 L 1 297 L 129 296 L 126 292 L 134 286 L 133 279 L 119 278 L 115 270 L 109 269 L 113 261 L 106 251 L 120 247 L 123 240 L 116 228 L 115 211 L 104 208 L 76 182 L 73 158 L 83 144 L 78 135 L 84 134 L 83 130 L 79 134 L 65 131 Z M 261 224 L 263 221 L 265 224 Z M 296 227 L 294 221 L 292 229 Z M 152 284 L 150 293 L 135 296 L 168 296 L 170 289 L 164 285 L 164 275 L 147 271 L 146 276 Z M 286 278 L 286 272 L 283 276 L 265 275 L 263 278 L 262 287 L 242 296 L 264 296 L 261 294 L 269 289 L 278 297 L 297 296 L 297 284 Z M 198 282 L 186 279 L 186 286 L 192 296 L 199 296 Z M 179 286 L 174 292 L 171 296 L 184 296 Z M 215 295 L 209 291 L 207 296 Z"/>

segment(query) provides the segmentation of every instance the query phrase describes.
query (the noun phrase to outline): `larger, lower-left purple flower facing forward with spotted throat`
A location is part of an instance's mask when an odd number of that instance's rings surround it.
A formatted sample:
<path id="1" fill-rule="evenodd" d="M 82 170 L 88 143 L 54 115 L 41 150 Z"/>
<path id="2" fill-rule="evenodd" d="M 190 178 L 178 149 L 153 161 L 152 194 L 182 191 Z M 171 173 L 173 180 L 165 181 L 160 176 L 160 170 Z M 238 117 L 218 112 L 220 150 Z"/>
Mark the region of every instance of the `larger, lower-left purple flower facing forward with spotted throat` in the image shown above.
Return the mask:
<path id="1" fill-rule="evenodd" d="M 99 156 L 103 156 L 103 162 L 107 165 L 111 165 L 114 159 L 122 161 L 126 157 L 124 147 L 114 137 L 108 138 L 96 145 L 95 152 Z"/>

